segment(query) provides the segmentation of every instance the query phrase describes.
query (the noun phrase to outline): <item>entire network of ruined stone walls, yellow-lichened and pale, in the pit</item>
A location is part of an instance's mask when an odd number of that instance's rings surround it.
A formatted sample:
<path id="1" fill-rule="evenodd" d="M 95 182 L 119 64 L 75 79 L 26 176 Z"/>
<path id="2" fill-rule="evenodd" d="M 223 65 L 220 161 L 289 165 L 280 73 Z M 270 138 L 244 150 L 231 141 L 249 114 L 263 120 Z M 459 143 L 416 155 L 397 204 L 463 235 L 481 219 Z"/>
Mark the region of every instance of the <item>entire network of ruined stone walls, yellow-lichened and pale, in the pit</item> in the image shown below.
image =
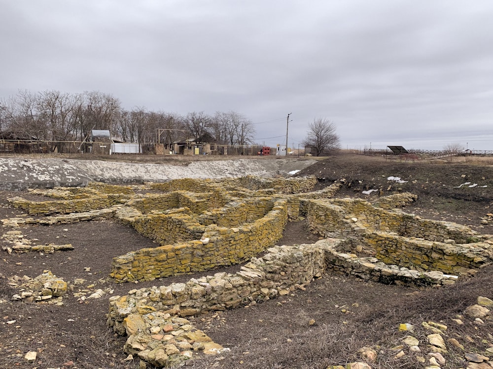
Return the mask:
<path id="1" fill-rule="evenodd" d="M 188 316 L 275 299 L 326 273 L 433 286 L 455 283 L 492 262 L 492 236 L 398 210 L 416 199 L 411 193 L 378 197 L 371 203 L 335 198 L 342 183 L 314 191 L 316 184 L 314 177 L 246 176 L 35 189 L 31 193 L 53 200 L 9 199 L 35 217 L 3 219 L 12 229 L 3 238 L 14 240 L 10 252 L 70 249 L 71 245 L 32 246 L 23 242 L 17 228 L 112 218 L 159 245 L 115 257 L 108 277 L 116 283 L 247 261 L 236 274 L 216 273 L 170 285 L 156 281 L 151 288 L 129 287 L 127 295 L 110 298 L 107 323 L 127 337 L 124 351 L 156 367 L 227 350 L 192 326 Z M 277 246 L 286 222 L 302 218 L 320 241 Z M 15 298 L 63 300 L 63 278 L 48 271 L 36 278 L 39 291 Z"/>

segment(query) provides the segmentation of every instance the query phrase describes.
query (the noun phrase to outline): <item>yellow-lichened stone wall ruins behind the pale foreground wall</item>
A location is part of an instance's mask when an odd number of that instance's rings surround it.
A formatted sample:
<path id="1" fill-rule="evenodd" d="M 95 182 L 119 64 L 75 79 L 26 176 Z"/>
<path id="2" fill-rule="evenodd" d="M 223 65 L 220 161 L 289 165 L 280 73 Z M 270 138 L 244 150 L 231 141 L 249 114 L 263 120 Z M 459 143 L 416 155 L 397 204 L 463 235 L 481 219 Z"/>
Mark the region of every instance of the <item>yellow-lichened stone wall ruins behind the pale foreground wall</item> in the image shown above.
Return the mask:
<path id="1" fill-rule="evenodd" d="M 314 178 L 249 176 L 220 181 L 182 179 L 143 186 L 90 184 L 85 189 L 87 198 L 81 198 L 81 189 L 58 189 L 46 193 L 64 200 L 11 201 L 33 214 L 77 215 L 46 218 L 46 224 L 115 216 L 161 245 L 115 258 L 111 276 L 118 282 L 241 262 L 273 246 L 282 237 L 287 219 L 299 216 L 306 216 L 310 229 L 324 237 L 347 239 L 339 252 L 376 257 L 418 272 L 464 274 L 491 262 L 488 236 L 455 223 L 387 210 L 414 201 L 416 196 L 412 194 L 380 197 L 376 205 L 362 199 L 328 199 L 340 182 L 320 191 L 293 193 L 315 184 Z M 168 192 L 143 195 L 146 189 Z M 283 191 L 287 193 L 280 193 Z M 86 211 L 105 207 L 104 214 L 100 214 L 102 210 Z M 21 222 L 28 223 L 29 219 Z"/>

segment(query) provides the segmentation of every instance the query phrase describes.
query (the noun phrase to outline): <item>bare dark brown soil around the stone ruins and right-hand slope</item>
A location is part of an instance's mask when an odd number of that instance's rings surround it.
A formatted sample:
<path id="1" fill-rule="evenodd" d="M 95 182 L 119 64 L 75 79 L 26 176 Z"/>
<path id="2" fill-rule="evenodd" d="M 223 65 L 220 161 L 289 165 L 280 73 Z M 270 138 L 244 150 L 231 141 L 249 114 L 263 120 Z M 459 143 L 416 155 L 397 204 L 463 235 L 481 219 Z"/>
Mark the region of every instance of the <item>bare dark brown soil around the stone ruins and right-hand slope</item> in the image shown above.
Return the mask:
<path id="1" fill-rule="evenodd" d="M 492 212 L 493 167 L 484 163 L 426 163 L 385 161 L 355 155 L 338 155 L 320 160 L 298 175 L 315 175 L 318 187 L 345 179 L 340 197 L 371 198 L 363 190 L 382 189 L 382 194 L 410 191 L 419 199 L 405 211 L 425 218 L 455 221 L 475 230 L 492 233 L 493 221 L 485 223 Z M 388 181 L 400 177 L 406 183 Z M 470 184 L 462 185 L 466 182 Z M 476 186 L 469 187 L 470 185 Z M 389 187 L 390 186 L 390 187 Z M 459 187 L 460 186 L 460 187 Z M 487 186 L 487 187 L 484 187 Z M 0 193 L 0 219 L 23 216 L 10 207 L 6 198 L 23 192 Z M 8 229 L 1 229 L 2 234 Z M 124 338 L 116 337 L 106 326 L 108 298 L 78 302 L 70 294 L 63 306 L 11 302 L 17 290 L 7 284 L 8 277 L 35 277 L 51 270 L 66 281 L 84 278 L 84 286 L 111 288 L 113 295 L 124 295 L 133 288 L 170 284 L 215 272 L 234 273 L 239 266 L 209 273 L 164 278 L 137 284 L 106 281 L 111 259 L 142 247 L 153 247 L 150 240 L 133 229 L 113 221 L 80 222 L 69 225 L 27 226 L 29 239 L 38 243 L 72 244 L 74 250 L 53 254 L 8 254 L 0 260 L 0 368 L 139 368 L 139 360 L 125 362 Z M 278 244 L 313 243 L 304 222 L 288 222 Z M 87 271 L 85 268 L 90 268 Z M 395 285 L 363 282 L 343 275 L 326 275 L 306 290 L 249 308 L 229 310 L 192 319 L 214 341 L 231 349 L 218 357 L 187 363 L 190 368 L 305 368 L 325 369 L 328 365 L 356 361 L 363 346 L 381 345 L 382 357 L 392 357 L 389 347 L 399 344 L 399 323 L 451 319 L 475 303 L 478 296 L 493 299 L 493 268 L 486 267 L 474 277 L 450 287 L 417 290 Z M 81 287 L 82 288 L 82 287 Z M 345 311 L 345 312 L 343 312 Z M 7 324 L 15 320 L 14 323 Z M 315 321 L 315 324 L 311 324 Z M 491 320 L 478 327 L 466 321 L 455 328 L 466 350 L 484 352 L 492 343 Z M 471 341 L 460 339 L 469 336 Z M 37 351 L 34 363 L 24 355 Z M 460 350 L 452 349 L 442 368 L 457 369 L 463 364 Z M 380 360 L 372 368 L 423 368 L 411 356 Z"/>

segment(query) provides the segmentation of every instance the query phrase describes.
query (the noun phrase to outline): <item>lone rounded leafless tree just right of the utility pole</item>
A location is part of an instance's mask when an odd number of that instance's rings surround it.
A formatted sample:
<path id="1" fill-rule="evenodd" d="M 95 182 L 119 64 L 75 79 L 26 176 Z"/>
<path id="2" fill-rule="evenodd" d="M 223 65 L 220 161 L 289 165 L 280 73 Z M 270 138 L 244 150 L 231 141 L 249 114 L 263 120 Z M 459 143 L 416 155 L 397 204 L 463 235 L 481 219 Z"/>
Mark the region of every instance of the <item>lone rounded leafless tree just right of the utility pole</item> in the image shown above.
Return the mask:
<path id="1" fill-rule="evenodd" d="M 341 145 L 339 135 L 336 133 L 336 125 L 325 118 L 315 118 L 313 123 L 310 123 L 303 143 L 305 147 L 312 147 L 317 156 L 339 149 Z"/>

